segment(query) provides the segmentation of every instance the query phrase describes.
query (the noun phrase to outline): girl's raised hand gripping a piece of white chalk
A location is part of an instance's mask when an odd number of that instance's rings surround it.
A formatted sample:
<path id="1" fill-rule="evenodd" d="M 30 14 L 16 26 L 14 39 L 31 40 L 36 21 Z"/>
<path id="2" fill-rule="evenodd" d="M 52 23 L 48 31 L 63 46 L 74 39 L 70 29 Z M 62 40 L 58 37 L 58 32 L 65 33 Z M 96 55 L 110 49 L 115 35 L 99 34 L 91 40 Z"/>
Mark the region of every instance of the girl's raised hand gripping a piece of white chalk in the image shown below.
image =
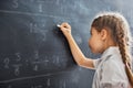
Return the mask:
<path id="1" fill-rule="evenodd" d="M 60 25 L 60 30 L 62 31 L 62 33 L 64 34 L 65 37 L 68 37 L 68 35 L 71 34 L 71 25 L 66 22 L 64 22 Z"/>

